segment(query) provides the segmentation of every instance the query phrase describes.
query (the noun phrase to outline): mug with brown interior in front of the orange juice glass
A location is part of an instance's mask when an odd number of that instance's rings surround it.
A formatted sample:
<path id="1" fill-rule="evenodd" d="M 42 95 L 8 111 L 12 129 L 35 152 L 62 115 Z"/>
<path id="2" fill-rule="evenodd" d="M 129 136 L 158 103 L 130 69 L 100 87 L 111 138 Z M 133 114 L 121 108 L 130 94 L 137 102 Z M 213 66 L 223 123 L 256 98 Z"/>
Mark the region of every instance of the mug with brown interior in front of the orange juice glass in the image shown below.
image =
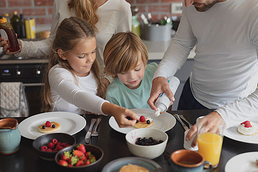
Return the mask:
<path id="1" fill-rule="evenodd" d="M 205 161 L 200 153 L 193 150 L 176 150 L 170 159 L 173 162 L 173 172 L 210 172 L 213 169 L 209 161 Z M 204 169 L 205 165 L 209 165 L 209 168 Z"/>

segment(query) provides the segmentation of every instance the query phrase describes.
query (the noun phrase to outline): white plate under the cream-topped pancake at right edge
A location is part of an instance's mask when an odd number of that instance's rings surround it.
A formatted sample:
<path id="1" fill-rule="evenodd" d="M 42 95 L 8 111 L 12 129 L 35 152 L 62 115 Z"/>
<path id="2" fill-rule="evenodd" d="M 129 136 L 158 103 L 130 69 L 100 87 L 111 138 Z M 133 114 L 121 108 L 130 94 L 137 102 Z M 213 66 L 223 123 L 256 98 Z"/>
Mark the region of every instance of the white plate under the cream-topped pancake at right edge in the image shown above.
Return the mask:
<path id="1" fill-rule="evenodd" d="M 258 126 L 258 117 L 250 119 L 252 123 L 255 123 Z M 244 142 L 244 143 L 255 143 L 258 144 L 258 134 L 254 136 L 241 135 L 237 131 L 237 125 L 227 128 L 224 131 L 224 136 L 235 141 Z M 258 158 L 258 157 L 257 157 Z"/>

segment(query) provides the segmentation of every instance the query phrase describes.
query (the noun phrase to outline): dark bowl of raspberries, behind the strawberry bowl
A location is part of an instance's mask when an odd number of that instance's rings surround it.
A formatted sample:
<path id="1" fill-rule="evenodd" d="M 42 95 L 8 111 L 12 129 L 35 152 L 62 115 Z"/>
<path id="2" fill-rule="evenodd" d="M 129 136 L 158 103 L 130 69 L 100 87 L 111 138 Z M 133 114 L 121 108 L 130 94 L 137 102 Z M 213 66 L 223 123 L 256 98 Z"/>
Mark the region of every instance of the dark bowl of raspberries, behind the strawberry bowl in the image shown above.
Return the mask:
<path id="1" fill-rule="evenodd" d="M 35 139 L 32 146 L 40 158 L 54 161 L 58 151 L 75 143 L 75 138 L 69 134 L 50 133 Z"/>

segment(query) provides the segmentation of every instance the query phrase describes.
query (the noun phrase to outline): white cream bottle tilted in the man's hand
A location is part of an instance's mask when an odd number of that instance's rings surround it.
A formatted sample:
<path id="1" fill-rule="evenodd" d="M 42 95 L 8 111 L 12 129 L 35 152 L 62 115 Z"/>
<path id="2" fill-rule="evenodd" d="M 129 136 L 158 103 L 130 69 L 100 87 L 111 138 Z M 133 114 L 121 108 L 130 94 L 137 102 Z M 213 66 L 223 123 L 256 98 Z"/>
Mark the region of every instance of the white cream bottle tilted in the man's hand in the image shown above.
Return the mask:
<path id="1" fill-rule="evenodd" d="M 175 76 L 170 76 L 167 78 L 167 82 L 169 84 L 170 90 L 175 95 L 177 87 L 180 84 L 179 79 Z M 166 112 L 170 103 L 171 103 L 171 100 L 167 97 L 165 92 L 163 92 L 156 100 L 155 106 L 157 107 L 158 111 L 156 111 L 155 115 L 159 116 L 161 112 Z"/>

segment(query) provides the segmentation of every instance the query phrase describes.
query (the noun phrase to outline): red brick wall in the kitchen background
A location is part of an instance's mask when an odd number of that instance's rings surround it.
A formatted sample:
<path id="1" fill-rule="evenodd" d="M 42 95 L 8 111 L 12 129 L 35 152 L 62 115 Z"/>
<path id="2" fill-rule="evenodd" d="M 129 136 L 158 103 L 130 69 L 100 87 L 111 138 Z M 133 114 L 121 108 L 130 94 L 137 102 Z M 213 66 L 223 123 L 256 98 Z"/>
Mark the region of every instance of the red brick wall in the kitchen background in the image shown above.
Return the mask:
<path id="1" fill-rule="evenodd" d="M 33 17 L 36 28 L 50 28 L 52 22 L 52 6 L 54 0 L 0 0 L 0 15 L 13 11 L 23 13 L 24 17 Z M 182 0 L 127 0 L 131 6 L 139 8 L 138 13 L 152 13 L 153 21 L 170 14 L 171 2 L 182 2 Z"/>

